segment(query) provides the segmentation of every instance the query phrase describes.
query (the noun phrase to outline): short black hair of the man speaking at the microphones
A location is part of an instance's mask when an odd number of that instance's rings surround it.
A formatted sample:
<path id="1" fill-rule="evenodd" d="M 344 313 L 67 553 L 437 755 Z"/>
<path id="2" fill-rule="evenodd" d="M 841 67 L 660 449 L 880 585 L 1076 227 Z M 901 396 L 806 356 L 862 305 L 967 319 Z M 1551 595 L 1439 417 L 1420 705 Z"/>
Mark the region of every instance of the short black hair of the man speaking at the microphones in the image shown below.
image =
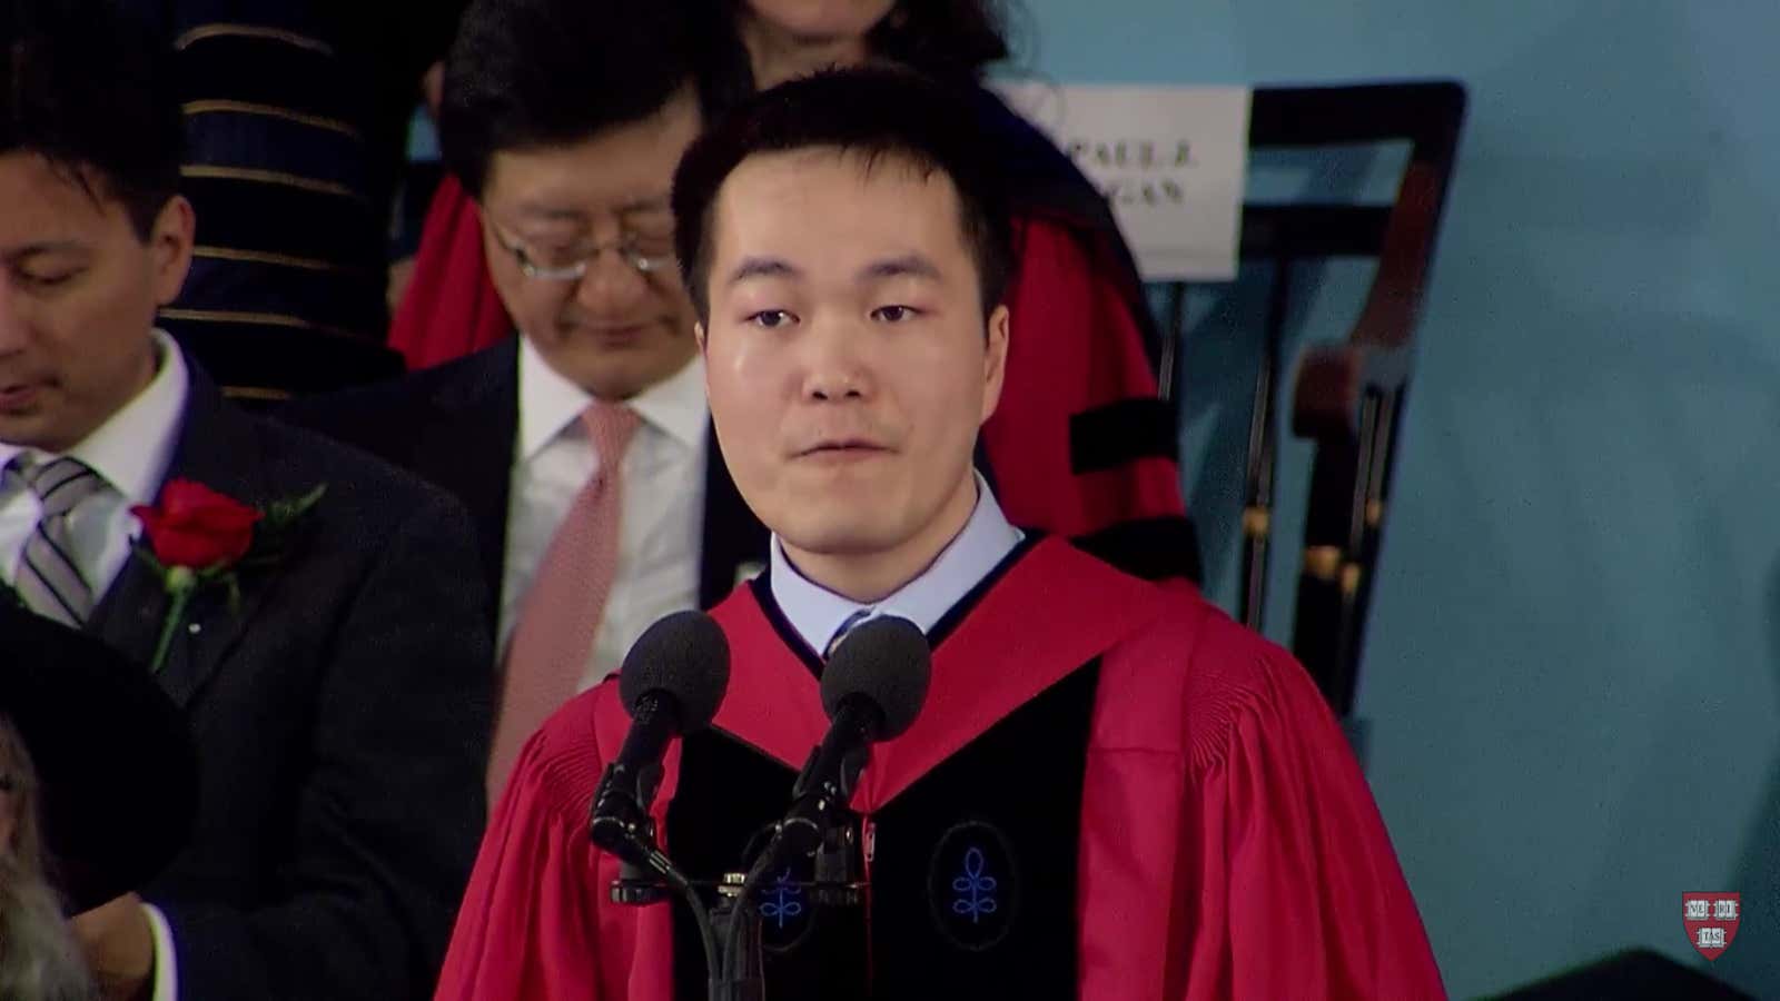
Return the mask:
<path id="1" fill-rule="evenodd" d="M 705 132 L 673 178 L 675 251 L 700 319 L 710 321 L 710 230 L 723 182 L 753 155 L 797 150 L 945 175 L 958 191 L 983 313 L 993 312 L 1007 294 L 1013 239 L 1000 164 L 977 128 L 977 107 L 972 93 L 908 69 L 829 69 L 764 91 Z"/>

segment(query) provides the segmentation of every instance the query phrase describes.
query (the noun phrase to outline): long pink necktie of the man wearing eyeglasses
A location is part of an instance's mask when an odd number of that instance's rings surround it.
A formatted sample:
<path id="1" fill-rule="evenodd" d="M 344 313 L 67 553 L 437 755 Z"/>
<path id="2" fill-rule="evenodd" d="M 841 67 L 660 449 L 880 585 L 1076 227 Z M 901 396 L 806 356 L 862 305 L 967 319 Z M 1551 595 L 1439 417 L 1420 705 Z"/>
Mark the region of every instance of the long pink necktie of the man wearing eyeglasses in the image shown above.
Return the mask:
<path id="1" fill-rule="evenodd" d="M 488 761 L 490 807 L 506 789 L 525 741 L 575 696 L 618 572 L 621 468 L 641 419 L 628 406 L 595 401 L 580 420 L 600 465 L 575 495 L 520 606 Z"/>

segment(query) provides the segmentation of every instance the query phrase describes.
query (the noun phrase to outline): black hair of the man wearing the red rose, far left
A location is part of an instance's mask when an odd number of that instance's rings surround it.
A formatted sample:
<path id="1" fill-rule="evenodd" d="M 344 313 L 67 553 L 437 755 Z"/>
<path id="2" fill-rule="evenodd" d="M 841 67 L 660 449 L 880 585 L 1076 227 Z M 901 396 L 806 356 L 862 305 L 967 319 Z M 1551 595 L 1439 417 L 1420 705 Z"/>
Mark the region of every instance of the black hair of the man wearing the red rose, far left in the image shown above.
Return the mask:
<path id="1" fill-rule="evenodd" d="M 41 155 L 148 240 L 185 151 L 169 68 L 160 34 L 112 0 L 0 4 L 0 155 Z"/>

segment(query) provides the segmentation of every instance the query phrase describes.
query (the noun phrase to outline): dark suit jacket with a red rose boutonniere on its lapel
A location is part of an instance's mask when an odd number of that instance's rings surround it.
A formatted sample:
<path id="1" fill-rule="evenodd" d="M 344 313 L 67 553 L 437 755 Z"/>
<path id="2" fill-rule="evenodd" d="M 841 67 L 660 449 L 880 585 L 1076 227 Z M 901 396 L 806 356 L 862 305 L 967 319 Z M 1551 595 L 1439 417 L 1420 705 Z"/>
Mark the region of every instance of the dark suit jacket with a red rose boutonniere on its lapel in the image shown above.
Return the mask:
<path id="1" fill-rule="evenodd" d="M 493 654 L 468 520 L 235 410 L 196 367 L 182 477 L 249 504 L 328 493 L 285 559 L 242 572 L 239 613 L 199 591 L 158 675 L 199 759 L 192 841 L 142 889 L 173 928 L 180 997 L 425 997 L 486 814 Z M 91 629 L 148 663 L 166 604 L 132 559 Z"/>

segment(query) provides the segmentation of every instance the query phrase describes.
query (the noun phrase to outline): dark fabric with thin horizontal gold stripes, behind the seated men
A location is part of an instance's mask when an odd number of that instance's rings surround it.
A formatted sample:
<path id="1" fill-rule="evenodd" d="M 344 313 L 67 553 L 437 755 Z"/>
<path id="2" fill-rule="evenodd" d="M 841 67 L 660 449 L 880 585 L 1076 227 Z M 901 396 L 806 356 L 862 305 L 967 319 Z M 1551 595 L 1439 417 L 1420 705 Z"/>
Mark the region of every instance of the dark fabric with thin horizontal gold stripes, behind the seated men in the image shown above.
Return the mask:
<path id="1" fill-rule="evenodd" d="M 392 374 L 363 53 L 313 4 L 171 5 L 198 246 L 162 324 L 237 397 Z"/>

